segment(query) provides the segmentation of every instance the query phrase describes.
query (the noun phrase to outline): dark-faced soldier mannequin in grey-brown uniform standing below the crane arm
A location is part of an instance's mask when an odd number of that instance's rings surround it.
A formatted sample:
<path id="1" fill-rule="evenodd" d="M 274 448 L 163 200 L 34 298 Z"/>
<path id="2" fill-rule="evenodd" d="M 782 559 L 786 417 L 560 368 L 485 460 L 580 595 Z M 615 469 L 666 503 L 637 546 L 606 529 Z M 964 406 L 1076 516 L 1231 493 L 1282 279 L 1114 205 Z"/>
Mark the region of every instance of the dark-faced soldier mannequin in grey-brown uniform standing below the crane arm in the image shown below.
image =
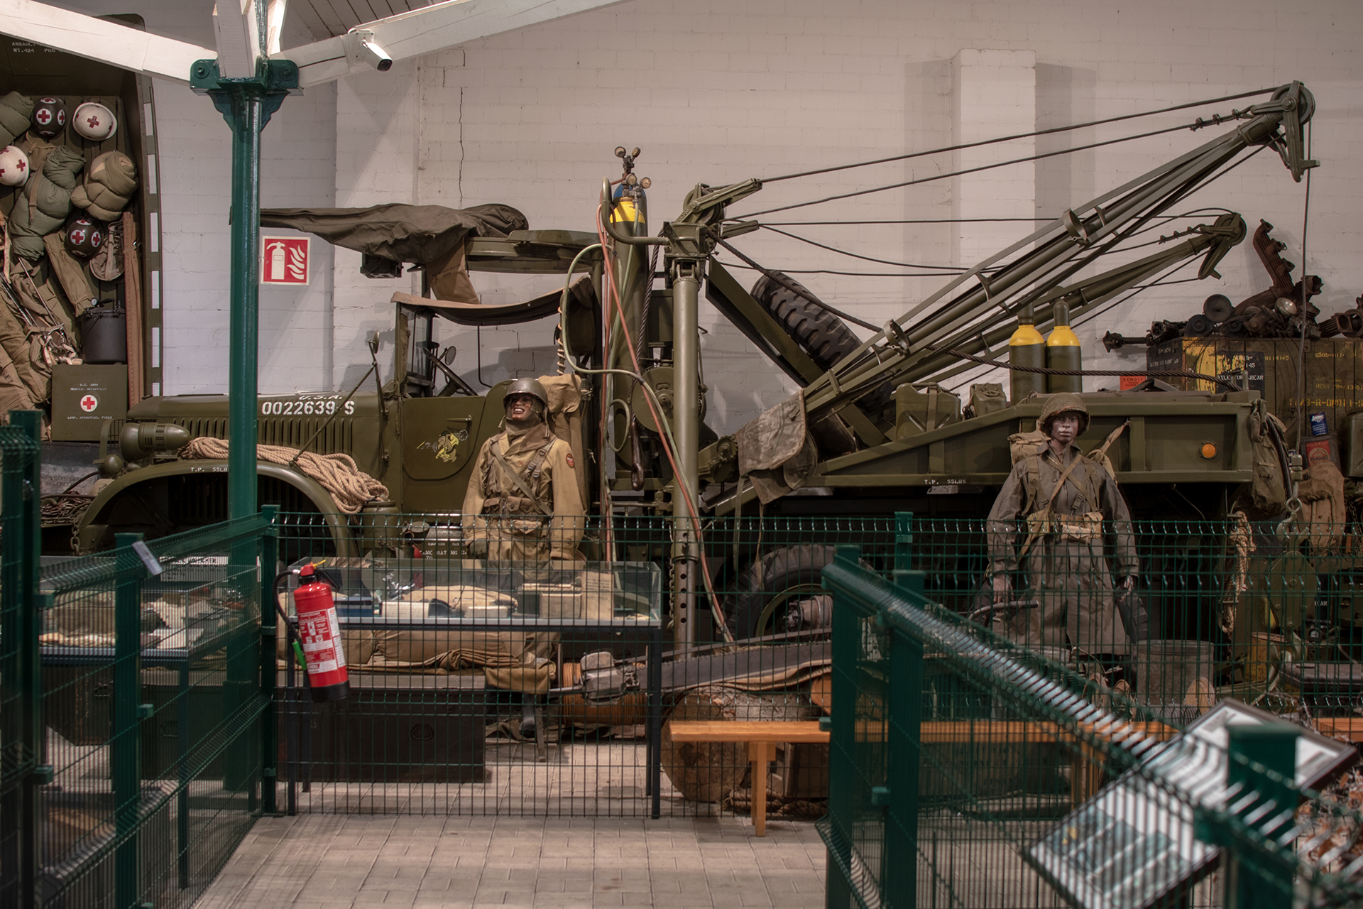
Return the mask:
<path id="1" fill-rule="evenodd" d="M 1047 446 L 1013 465 L 990 511 L 994 601 L 1009 600 L 1009 575 L 1025 560 L 1039 606 L 1007 619 L 1010 638 L 1029 647 L 1069 645 L 1094 657 L 1126 656 L 1130 641 L 1116 615 L 1111 575 L 1115 571 L 1124 590 L 1135 587 L 1131 515 L 1112 476 L 1074 443 L 1089 425 L 1078 395 L 1051 395 L 1037 425 Z M 1017 519 L 1024 517 L 1026 536 L 1014 549 Z M 1112 570 L 1103 552 L 1104 529 L 1114 540 Z"/>

